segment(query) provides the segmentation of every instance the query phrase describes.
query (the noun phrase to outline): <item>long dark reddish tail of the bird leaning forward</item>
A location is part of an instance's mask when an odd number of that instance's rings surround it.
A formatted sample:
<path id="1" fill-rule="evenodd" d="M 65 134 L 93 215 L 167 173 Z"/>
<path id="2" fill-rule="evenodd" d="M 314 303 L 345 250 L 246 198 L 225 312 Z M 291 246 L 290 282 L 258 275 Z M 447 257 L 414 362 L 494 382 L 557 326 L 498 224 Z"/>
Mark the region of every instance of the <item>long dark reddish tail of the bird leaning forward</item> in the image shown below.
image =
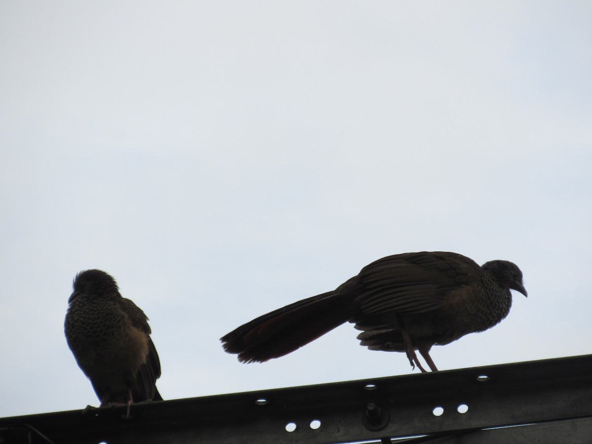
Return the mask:
<path id="1" fill-rule="evenodd" d="M 330 291 L 259 316 L 226 334 L 224 350 L 241 362 L 287 355 L 349 320 L 349 303 Z"/>

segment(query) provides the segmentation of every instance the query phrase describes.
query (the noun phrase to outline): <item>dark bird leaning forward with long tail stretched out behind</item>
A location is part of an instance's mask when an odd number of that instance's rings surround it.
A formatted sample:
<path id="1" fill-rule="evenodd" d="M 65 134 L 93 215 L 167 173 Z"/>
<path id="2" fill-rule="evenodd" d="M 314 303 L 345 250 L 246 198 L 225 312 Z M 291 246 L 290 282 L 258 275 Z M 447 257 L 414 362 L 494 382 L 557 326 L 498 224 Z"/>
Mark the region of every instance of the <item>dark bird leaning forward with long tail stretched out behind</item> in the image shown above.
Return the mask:
<path id="1" fill-rule="evenodd" d="M 457 253 L 403 253 L 378 259 L 334 291 L 271 311 L 221 338 L 241 362 L 287 355 L 349 321 L 362 330 L 370 350 L 405 352 L 422 367 L 415 350 L 437 371 L 433 345 L 483 332 L 507 316 L 510 289 L 527 296 L 522 272 L 507 260 L 479 266 Z"/>

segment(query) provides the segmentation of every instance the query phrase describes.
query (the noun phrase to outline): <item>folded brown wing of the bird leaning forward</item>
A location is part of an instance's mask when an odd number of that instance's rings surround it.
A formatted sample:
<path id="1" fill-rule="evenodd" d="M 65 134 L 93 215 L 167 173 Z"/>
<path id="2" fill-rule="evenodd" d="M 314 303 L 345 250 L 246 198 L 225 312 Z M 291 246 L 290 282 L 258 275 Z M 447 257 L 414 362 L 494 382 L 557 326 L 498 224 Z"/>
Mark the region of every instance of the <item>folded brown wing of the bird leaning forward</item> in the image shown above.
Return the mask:
<path id="1" fill-rule="evenodd" d="M 363 314 L 426 313 L 436 310 L 450 291 L 481 273 L 474 260 L 456 253 L 387 256 L 362 269 L 355 301 Z"/>

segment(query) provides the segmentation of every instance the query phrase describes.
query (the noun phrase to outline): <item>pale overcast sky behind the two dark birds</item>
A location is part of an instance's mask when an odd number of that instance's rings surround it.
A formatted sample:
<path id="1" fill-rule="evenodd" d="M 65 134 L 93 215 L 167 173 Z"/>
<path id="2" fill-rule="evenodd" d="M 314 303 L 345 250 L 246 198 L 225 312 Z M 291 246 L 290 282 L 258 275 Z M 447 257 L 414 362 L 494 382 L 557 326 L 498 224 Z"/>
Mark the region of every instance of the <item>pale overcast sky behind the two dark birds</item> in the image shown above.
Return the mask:
<path id="1" fill-rule="evenodd" d="M 0 60 L 0 416 L 99 404 L 63 334 L 88 268 L 165 399 L 410 374 L 351 324 L 263 364 L 218 338 L 421 250 L 529 294 L 440 369 L 592 352 L 590 2 L 8 0 Z"/>

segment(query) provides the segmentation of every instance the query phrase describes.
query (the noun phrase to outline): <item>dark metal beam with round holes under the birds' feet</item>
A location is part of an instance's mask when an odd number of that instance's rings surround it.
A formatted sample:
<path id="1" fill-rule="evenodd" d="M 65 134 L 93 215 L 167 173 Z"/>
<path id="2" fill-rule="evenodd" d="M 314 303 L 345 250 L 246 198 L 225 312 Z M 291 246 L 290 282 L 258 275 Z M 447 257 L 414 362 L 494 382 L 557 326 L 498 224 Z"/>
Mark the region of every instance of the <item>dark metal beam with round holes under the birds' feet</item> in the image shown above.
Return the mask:
<path id="1" fill-rule="evenodd" d="M 123 413 L 3 418 L 0 444 L 584 442 L 592 355 L 134 404 L 131 419 Z"/>

